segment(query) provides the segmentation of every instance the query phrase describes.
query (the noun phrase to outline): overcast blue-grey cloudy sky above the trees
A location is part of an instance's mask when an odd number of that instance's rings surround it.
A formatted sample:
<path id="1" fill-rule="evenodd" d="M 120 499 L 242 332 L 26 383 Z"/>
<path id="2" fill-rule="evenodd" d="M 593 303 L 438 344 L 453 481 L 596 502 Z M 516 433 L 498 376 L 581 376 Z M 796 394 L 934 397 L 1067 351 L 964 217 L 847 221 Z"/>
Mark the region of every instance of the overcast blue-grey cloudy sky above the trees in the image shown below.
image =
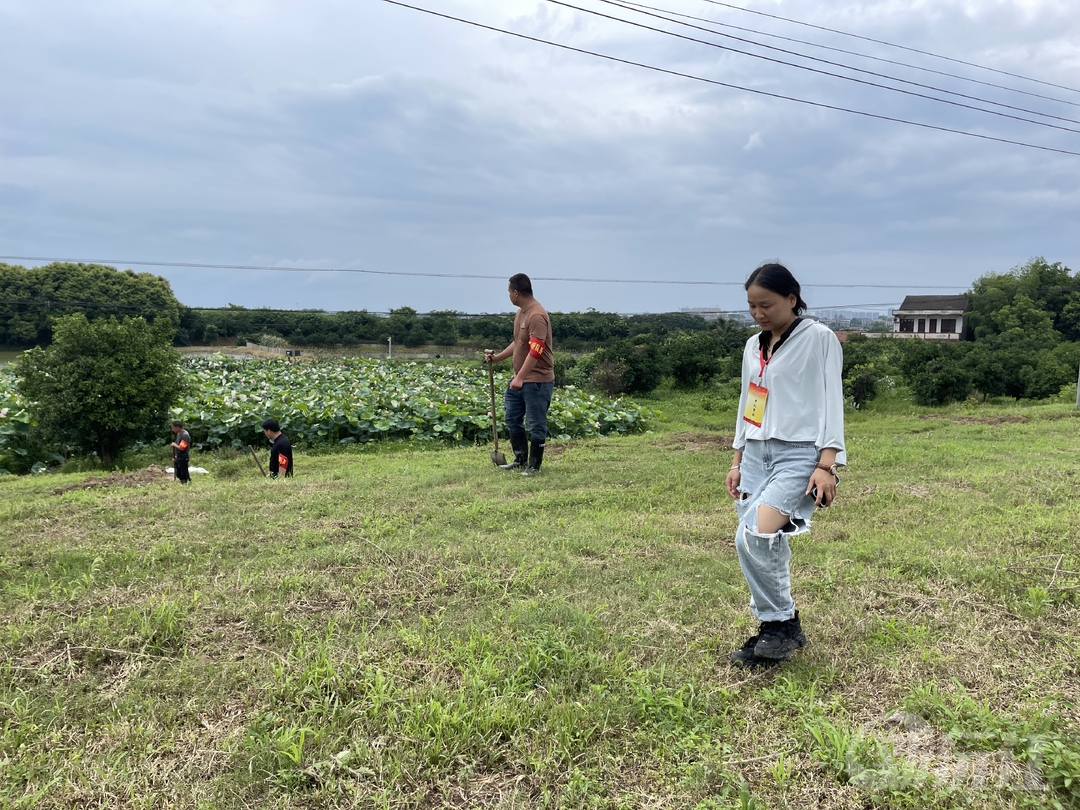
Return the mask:
<path id="1" fill-rule="evenodd" d="M 1080 152 L 1076 132 L 545 0 L 409 1 L 717 82 Z M 1067 89 L 1080 89 L 1076 0 L 742 3 L 1065 89 L 706 0 L 640 1 L 1050 96 L 1059 100 L 719 29 L 1080 130 L 1080 92 Z M 659 73 L 380 0 L 0 0 L 0 254 L 497 276 L 121 265 L 166 276 L 191 306 L 507 311 L 504 280 L 526 272 L 552 310 L 735 309 L 738 284 L 780 259 L 812 307 L 886 308 L 908 293 L 963 292 L 1032 256 L 1080 270 L 1078 224 L 1077 156 Z"/>

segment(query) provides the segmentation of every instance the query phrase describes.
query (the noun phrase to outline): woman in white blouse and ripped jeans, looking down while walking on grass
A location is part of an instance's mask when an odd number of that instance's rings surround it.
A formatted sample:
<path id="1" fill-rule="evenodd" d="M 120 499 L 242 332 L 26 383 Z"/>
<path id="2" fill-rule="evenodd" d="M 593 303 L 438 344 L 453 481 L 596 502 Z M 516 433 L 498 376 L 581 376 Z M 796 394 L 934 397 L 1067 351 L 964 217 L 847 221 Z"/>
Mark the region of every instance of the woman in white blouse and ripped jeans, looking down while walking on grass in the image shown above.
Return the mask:
<path id="1" fill-rule="evenodd" d="M 810 530 L 815 507 L 836 496 L 843 446 L 843 354 L 831 329 L 799 315 L 799 283 L 783 265 L 746 280 L 761 332 L 746 342 L 734 460 L 726 486 L 735 499 L 735 549 L 750 585 L 756 635 L 731 653 L 746 665 L 788 660 L 808 642 L 792 598 L 787 538 Z"/>

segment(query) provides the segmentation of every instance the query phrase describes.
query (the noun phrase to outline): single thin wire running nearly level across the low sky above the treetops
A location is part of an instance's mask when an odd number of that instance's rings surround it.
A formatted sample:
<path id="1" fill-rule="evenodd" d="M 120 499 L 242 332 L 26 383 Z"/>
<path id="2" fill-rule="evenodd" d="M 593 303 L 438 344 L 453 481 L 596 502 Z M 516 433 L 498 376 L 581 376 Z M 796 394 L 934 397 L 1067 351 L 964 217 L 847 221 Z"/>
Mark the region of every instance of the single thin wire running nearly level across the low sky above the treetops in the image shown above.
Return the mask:
<path id="1" fill-rule="evenodd" d="M 391 2 L 392 0 L 384 0 Z M 0 259 L 13 261 L 64 261 L 76 265 L 134 265 L 136 267 L 186 267 L 200 270 L 275 270 L 286 273 L 363 273 L 370 275 L 410 276 L 422 279 L 484 279 L 488 281 L 505 281 L 504 275 L 484 275 L 481 273 L 423 273 L 411 270 L 364 270 L 350 267 L 278 267 L 275 265 L 208 265 L 194 261 L 135 261 L 131 259 L 72 259 L 50 256 L 0 256 Z M 689 286 L 741 287 L 743 281 L 688 281 L 678 279 L 585 279 L 559 275 L 534 275 L 534 281 L 563 281 L 583 284 L 678 284 Z M 934 284 L 804 284 L 807 287 L 836 287 L 840 289 L 876 288 L 876 289 L 956 289 L 956 285 Z"/>

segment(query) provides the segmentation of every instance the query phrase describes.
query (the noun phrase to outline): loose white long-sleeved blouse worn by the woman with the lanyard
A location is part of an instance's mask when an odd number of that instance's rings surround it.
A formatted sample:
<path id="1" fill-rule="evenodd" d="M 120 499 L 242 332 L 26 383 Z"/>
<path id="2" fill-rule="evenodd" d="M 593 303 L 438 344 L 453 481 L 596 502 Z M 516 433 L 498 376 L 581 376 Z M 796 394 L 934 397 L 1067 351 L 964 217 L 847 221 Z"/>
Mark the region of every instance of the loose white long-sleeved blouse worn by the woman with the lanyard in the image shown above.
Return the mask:
<path id="1" fill-rule="evenodd" d="M 836 463 L 846 464 L 843 350 L 836 335 L 816 321 L 802 321 L 769 360 L 764 375 L 759 346 L 754 335 L 743 350 L 734 448 L 741 450 L 747 440 L 813 442 L 819 450 L 836 449 Z M 743 419 L 751 382 L 769 391 L 760 428 Z"/>

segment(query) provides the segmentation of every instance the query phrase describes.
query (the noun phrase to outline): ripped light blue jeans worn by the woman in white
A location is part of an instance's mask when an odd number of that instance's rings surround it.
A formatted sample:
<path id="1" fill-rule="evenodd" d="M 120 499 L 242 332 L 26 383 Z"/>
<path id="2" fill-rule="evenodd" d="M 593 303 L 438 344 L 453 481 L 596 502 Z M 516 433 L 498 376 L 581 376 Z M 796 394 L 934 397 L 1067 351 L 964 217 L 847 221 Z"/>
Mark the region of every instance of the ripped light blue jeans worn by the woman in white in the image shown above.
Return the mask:
<path id="1" fill-rule="evenodd" d="M 735 551 L 746 584 L 750 609 L 761 622 L 787 621 L 795 616 L 792 599 L 792 550 L 787 538 L 810 530 L 813 497 L 807 484 L 820 453 L 812 442 L 778 438 L 746 442 L 740 462 L 739 528 Z M 772 535 L 757 530 L 757 508 L 772 507 L 788 515 L 787 525 Z"/>

